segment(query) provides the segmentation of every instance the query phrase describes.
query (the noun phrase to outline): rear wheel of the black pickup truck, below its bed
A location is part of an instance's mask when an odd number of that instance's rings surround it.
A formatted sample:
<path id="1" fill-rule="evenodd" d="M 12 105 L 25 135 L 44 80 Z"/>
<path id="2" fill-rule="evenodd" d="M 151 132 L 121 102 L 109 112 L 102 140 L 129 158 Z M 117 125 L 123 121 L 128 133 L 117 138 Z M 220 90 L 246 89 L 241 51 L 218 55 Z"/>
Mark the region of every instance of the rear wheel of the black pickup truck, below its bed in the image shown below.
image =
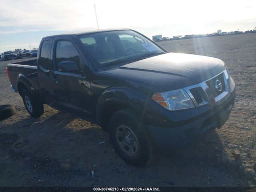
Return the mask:
<path id="1" fill-rule="evenodd" d="M 22 99 L 26 110 L 32 117 L 38 118 L 44 113 L 44 105 L 36 100 L 26 88 L 22 90 Z"/>

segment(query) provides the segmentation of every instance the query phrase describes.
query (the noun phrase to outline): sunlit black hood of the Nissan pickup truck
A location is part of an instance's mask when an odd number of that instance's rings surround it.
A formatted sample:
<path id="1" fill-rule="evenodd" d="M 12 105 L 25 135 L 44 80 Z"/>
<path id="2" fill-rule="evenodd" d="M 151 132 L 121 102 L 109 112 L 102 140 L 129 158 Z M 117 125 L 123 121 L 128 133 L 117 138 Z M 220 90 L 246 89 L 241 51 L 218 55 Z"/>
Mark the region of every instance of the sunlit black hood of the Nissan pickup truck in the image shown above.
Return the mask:
<path id="1" fill-rule="evenodd" d="M 207 56 L 166 53 L 106 72 L 158 84 L 166 90 L 198 84 L 225 69 L 222 60 Z"/>

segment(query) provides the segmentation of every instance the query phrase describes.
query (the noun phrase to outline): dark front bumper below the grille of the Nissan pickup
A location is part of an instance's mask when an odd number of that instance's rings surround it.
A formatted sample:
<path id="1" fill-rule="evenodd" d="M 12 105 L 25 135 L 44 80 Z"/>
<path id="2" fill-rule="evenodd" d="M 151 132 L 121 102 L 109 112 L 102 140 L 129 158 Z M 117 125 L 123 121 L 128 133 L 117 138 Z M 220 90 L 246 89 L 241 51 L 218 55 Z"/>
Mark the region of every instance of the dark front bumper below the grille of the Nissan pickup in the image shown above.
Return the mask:
<path id="1" fill-rule="evenodd" d="M 147 125 L 158 151 L 171 152 L 178 148 L 185 147 L 191 142 L 203 138 L 208 132 L 215 128 L 220 128 L 223 122 L 220 122 L 219 117 L 225 111 L 230 113 L 234 105 L 235 95 L 236 91 L 234 90 L 226 101 L 220 104 L 220 106 L 216 106 L 209 114 L 182 126 L 167 128 Z"/>

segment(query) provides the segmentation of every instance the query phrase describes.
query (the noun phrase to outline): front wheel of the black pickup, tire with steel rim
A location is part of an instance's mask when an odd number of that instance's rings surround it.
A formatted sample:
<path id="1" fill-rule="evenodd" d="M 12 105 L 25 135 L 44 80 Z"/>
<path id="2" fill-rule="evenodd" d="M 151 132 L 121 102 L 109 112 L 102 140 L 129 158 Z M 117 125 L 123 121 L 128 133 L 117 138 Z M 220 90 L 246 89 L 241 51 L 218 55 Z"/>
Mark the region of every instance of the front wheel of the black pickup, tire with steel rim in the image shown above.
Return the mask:
<path id="1" fill-rule="evenodd" d="M 124 129 L 124 132 L 122 132 L 122 129 Z M 144 123 L 140 121 L 140 118 L 132 110 L 122 109 L 115 112 L 109 120 L 108 133 L 117 154 L 128 164 L 137 167 L 144 166 L 154 156 L 152 139 L 150 139 Z M 132 144 L 129 138 L 126 137 L 127 133 L 128 136 L 132 135 Z M 123 134 L 124 137 L 120 136 L 120 134 Z M 126 139 L 128 139 L 128 142 Z M 127 146 L 124 147 L 124 145 Z M 137 145 L 138 149 L 136 149 Z M 132 149 L 131 153 L 130 147 Z"/>

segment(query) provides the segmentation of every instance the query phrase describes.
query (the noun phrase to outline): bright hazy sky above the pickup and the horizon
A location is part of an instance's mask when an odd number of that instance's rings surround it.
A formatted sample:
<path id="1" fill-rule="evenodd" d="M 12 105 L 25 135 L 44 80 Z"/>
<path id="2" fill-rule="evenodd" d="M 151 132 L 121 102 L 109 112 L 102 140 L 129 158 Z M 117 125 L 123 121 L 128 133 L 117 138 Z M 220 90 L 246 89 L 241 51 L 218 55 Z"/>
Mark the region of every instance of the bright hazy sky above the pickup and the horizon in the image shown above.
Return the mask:
<path id="1" fill-rule="evenodd" d="M 256 26 L 256 0 L 0 0 L 0 52 L 97 28 L 94 4 L 100 28 L 132 28 L 150 38 Z"/>

